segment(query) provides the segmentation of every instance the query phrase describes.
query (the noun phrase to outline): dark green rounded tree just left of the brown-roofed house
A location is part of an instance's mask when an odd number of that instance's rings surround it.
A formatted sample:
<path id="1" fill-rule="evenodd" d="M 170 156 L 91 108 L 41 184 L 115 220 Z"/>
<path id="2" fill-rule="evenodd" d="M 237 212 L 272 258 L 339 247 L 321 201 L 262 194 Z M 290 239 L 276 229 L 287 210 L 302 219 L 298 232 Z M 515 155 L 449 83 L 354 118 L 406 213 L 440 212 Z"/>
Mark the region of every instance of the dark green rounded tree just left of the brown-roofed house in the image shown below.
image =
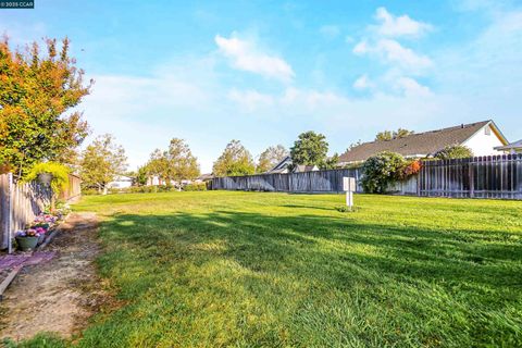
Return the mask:
<path id="1" fill-rule="evenodd" d="M 328 142 L 326 137 L 315 132 L 301 133 L 290 149 L 293 165 L 318 165 L 326 162 L 328 152 Z"/>

